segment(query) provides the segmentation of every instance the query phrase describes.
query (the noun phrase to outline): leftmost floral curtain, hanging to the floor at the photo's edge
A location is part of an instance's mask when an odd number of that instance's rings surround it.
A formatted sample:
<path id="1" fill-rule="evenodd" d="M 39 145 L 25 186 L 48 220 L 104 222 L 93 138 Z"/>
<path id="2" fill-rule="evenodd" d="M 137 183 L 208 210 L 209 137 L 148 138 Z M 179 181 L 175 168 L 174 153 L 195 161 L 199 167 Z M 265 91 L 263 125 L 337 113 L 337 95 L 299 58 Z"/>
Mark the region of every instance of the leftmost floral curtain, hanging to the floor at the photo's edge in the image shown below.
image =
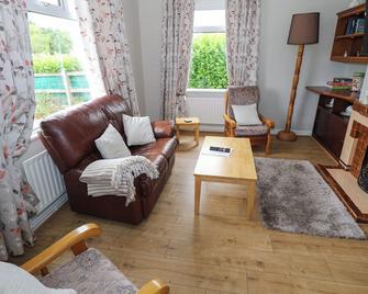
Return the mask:
<path id="1" fill-rule="evenodd" d="M 0 1 L 0 260 L 34 242 L 29 214 L 37 199 L 18 168 L 34 120 L 31 56 L 25 1 Z"/>

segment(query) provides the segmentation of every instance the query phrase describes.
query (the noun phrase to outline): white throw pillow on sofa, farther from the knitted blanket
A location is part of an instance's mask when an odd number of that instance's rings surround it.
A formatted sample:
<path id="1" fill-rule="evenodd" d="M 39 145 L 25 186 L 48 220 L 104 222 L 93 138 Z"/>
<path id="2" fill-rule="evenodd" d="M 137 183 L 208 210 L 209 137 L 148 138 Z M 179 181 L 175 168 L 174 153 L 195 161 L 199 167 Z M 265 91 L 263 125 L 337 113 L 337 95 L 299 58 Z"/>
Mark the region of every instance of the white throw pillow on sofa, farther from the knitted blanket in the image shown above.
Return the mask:
<path id="1" fill-rule="evenodd" d="M 138 117 L 123 114 L 123 123 L 129 146 L 156 142 L 148 116 Z"/>

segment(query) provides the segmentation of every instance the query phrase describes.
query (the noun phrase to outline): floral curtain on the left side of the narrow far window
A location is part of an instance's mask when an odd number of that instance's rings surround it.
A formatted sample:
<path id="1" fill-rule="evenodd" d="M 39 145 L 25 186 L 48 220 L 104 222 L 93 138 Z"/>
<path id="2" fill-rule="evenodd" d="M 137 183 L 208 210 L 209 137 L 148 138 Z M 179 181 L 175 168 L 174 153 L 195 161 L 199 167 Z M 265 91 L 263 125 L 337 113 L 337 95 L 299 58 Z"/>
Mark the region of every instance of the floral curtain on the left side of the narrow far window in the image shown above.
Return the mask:
<path id="1" fill-rule="evenodd" d="M 161 44 L 163 116 L 185 115 L 193 36 L 194 0 L 165 0 Z"/>

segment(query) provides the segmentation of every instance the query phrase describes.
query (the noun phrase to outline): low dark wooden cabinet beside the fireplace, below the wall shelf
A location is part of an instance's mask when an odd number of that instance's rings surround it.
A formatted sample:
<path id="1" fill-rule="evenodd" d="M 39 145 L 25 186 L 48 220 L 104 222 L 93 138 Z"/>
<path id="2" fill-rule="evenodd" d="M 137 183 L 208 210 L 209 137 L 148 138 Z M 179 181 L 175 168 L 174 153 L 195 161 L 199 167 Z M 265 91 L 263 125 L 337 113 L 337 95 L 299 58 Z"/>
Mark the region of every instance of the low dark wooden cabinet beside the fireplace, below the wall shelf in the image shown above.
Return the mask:
<path id="1" fill-rule="evenodd" d="M 346 90 L 332 90 L 327 87 L 306 87 L 306 89 L 320 95 L 312 135 L 338 160 L 350 120 L 341 115 L 341 112 L 353 105 L 358 94 Z M 335 100 L 334 105 L 327 108 L 332 99 Z"/>

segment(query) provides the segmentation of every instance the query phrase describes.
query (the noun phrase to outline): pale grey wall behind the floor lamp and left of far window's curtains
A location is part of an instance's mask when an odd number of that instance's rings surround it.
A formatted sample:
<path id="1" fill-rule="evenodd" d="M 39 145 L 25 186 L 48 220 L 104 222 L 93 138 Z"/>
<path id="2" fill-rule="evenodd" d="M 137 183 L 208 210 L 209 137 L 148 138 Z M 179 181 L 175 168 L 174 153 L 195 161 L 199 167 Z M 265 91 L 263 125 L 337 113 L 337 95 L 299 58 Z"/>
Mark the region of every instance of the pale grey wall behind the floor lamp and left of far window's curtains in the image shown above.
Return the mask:
<path id="1" fill-rule="evenodd" d="M 159 117 L 160 30 L 163 0 L 138 0 L 145 103 L 147 114 Z M 349 0 L 261 0 L 261 42 L 259 87 L 260 111 L 282 128 L 287 115 L 297 46 L 287 45 L 291 15 L 297 12 L 321 12 L 320 44 L 305 47 L 304 63 L 295 103 L 293 128 L 310 134 L 317 97 L 305 86 L 325 84 L 335 76 L 352 76 L 365 70 L 361 65 L 330 61 L 336 25 L 336 12 L 347 8 Z"/>

